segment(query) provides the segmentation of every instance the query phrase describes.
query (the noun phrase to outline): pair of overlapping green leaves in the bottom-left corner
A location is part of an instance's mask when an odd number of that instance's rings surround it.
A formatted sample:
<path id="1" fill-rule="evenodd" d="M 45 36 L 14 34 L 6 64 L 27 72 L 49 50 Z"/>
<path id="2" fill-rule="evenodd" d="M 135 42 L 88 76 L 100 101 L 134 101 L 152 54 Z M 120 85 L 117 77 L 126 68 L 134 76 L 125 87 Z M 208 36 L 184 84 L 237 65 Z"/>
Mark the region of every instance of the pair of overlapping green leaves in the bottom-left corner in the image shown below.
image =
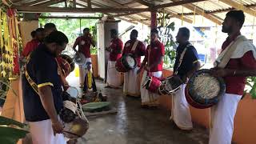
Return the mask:
<path id="1" fill-rule="evenodd" d="M 24 138 L 29 131 L 14 128 L 14 126 L 24 127 L 25 124 L 14 121 L 10 118 L 0 116 L 0 142 L 5 144 L 16 144 L 18 139 Z M 12 126 L 12 127 L 9 127 Z"/>

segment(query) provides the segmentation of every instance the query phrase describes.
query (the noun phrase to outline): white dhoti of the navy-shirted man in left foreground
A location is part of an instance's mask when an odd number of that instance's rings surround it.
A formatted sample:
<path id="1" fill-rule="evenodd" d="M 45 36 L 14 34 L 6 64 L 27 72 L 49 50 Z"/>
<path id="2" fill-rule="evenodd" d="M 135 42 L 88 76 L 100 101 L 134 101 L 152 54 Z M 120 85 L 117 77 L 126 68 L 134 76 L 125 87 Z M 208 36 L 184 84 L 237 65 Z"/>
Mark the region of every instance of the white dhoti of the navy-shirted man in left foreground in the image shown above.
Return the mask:
<path id="1" fill-rule="evenodd" d="M 33 144 L 66 144 L 63 134 L 56 134 L 54 136 L 50 119 L 29 122 L 29 126 Z"/>

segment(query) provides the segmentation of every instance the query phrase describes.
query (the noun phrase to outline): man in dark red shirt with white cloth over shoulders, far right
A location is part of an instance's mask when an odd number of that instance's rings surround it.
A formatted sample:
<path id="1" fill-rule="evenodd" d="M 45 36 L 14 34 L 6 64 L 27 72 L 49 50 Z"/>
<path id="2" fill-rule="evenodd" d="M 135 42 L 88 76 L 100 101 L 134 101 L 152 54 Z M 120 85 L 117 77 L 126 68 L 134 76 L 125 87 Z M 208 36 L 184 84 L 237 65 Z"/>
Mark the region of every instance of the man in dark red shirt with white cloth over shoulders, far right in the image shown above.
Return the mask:
<path id="1" fill-rule="evenodd" d="M 228 38 L 222 44 L 222 53 L 211 71 L 214 76 L 224 78 L 226 94 L 219 99 L 217 105 L 211 107 L 210 144 L 231 143 L 234 115 L 242 98 L 246 77 L 254 75 L 256 70 L 256 48 L 240 34 L 244 21 L 242 10 L 231 10 L 222 23 L 222 32 L 227 33 Z M 221 65 L 222 58 L 225 57 L 222 55 L 233 48 L 229 62 Z"/>

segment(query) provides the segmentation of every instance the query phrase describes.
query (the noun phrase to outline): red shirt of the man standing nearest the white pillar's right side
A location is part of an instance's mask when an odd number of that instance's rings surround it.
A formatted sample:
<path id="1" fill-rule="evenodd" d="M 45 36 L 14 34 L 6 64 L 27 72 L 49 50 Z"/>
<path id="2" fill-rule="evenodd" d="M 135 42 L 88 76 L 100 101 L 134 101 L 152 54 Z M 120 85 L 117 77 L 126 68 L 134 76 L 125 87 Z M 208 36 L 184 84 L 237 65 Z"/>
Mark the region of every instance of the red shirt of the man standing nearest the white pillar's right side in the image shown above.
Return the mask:
<path id="1" fill-rule="evenodd" d="M 110 61 L 114 62 L 122 57 L 122 45 L 122 40 L 119 38 L 114 38 L 110 41 Z M 119 51 L 121 51 L 121 54 L 118 54 Z"/>

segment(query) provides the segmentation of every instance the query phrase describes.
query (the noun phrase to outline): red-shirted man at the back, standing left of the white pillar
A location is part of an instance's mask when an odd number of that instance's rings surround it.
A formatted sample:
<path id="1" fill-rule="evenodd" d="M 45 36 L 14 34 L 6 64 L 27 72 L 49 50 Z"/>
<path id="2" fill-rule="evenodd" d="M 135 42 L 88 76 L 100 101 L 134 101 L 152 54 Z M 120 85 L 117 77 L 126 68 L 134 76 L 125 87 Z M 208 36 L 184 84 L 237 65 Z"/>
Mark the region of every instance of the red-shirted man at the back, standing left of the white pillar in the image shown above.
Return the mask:
<path id="1" fill-rule="evenodd" d="M 78 50 L 75 49 L 76 46 L 78 46 Z M 83 87 L 84 85 L 87 63 L 90 63 L 90 67 L 91 67 L 90 46 L 95 46 L 95 42 L 90 34 L 90 29 L 85 28 L 83 30 L 83 35 L 78 37 L 75 40 L 74 46 L 73 46 L 73 50 L 75 52 L 82 53 L 86 57 L 86 62 L 82 66 L 79 66 L 81 87 Z"/>

